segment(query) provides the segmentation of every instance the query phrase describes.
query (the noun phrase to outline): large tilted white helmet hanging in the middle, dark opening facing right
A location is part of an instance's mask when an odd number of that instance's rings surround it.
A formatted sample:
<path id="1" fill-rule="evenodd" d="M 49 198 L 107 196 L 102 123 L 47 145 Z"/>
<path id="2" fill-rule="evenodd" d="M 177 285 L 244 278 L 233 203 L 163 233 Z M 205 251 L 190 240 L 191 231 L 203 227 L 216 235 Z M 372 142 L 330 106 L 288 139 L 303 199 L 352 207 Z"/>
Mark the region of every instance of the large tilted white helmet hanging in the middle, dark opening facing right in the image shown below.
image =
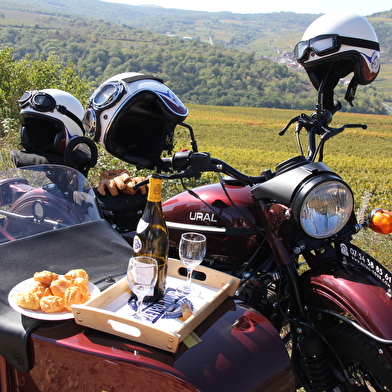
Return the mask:
<path id="1" fill-rule="evenodd" d="M 103 82 L 87 104 L 87 134 L 111 155 L 138 167 L 168 170 L 161 154 L 188 109 L 155 75 L 126 72 Z"/>

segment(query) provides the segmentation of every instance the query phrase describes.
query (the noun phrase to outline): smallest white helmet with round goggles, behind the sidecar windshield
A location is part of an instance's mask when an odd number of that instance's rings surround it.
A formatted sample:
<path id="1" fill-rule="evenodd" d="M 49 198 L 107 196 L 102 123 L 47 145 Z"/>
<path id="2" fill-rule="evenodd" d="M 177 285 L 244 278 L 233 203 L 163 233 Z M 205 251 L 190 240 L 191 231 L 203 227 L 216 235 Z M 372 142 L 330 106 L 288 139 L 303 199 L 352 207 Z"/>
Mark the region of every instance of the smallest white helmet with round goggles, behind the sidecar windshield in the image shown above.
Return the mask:
<path id="1" fill-rule="evenodd" d="M 83 106 L 65 91 L 26 91 L 18 103 L 21 145 L 26 151 L 62 155 L 70 140 L 84 135 Z"/>

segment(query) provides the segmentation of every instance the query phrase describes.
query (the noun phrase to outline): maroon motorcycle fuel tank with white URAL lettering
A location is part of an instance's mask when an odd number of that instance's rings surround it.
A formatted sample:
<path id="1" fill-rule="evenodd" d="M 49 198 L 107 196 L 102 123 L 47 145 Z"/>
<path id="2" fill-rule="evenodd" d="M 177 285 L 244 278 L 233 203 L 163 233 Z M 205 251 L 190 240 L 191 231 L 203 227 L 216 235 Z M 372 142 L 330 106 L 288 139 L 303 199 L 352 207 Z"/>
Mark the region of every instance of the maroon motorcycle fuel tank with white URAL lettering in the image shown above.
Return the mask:
<path id="1" fill-rule="evenodd" d="M 181 234 L 196 231 L 208 236 L 207 260 L 242 262 L 262 241 L 257 205 L 250 186 L 210 184 L 180 193 L 162 205 L 169 228 L 170 247 L 178 249 Z M 226 192 L 227 194 L 226 194 Z"/>

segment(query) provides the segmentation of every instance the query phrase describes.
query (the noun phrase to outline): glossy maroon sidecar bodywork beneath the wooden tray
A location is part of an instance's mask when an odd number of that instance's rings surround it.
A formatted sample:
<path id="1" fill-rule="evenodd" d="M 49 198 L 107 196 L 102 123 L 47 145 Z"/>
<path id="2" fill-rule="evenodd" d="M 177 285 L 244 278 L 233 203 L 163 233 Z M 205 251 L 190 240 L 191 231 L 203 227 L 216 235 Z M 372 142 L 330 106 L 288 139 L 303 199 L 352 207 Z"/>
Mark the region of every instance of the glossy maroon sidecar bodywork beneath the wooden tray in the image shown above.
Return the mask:
<path id="1" fill-rule="evenodd" d="M 263 316 L 229 299 L 195 333 L 201 343 L 181 344 L 172 354 L 85 330 L 73 320 L 45 323 L 32 335 L 33 369 L 23 374 L 8 366 L 9 391 L 295 389 L 285 347 Z"/>

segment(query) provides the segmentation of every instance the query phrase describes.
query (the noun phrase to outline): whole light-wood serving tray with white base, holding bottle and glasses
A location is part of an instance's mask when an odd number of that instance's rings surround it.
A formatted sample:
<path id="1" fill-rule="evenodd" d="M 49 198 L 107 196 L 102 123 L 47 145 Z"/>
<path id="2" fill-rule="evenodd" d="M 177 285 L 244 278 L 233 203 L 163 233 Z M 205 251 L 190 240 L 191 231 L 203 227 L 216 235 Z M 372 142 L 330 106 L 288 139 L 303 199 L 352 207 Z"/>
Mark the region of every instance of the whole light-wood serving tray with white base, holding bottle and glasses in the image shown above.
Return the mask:
<path id="1" fill-rule="evenodd" d="M 180 268 L 184 268 L 181 261 L 169 259 L 166 286 L 167 290 L 173 293 L 176 293 L 175 288 L 184 284 L 186 279 L 180 275 Z M 191 301 L 193 314 L 184 322 L 174 318 L 173 313 L 172 318 L 166 318 L 168 311 L 155 317 L 153 307 L 145 311 L 149 317 L 153 315 L 152 321 L 140 321 L 132 317 L 134 311 L 128 304 L 131 294 L 126 277 L 83 305 L 72 305 L 75 321 L 99 331 L 176 352 L 180 342 L 227 297 L 233 296 L 240 283 L 238 278 L 204 266 L 196 267 L 195 271 L 201 273 L 197 274 L 197 277 L 205 279 L 192 279 L 192 285 L 195 285 L 201 294 L 199 297 L 185 299 Z"/>

